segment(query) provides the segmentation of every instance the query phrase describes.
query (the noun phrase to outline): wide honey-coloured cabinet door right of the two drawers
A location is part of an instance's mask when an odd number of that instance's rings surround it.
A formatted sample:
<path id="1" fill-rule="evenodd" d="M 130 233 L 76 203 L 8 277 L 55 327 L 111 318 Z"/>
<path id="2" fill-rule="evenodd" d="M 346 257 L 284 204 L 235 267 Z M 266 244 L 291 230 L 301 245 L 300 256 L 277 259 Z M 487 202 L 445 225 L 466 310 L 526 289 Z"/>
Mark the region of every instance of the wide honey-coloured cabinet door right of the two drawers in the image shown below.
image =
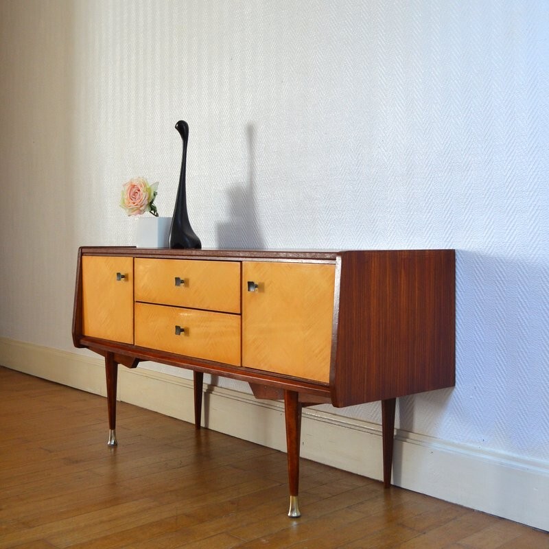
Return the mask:
<path id="1" fill-rule="evenodd" d="M 328 383 L 335 275 L 335 265 L 244 261 L 242 366 Z"/>

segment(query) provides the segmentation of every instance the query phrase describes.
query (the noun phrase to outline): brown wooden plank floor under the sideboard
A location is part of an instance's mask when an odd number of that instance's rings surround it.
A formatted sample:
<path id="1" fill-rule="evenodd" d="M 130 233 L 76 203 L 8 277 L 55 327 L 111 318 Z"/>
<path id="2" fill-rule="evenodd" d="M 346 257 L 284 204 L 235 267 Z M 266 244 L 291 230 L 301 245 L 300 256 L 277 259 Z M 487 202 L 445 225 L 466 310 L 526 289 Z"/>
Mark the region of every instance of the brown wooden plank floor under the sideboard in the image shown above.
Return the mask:
<path id="1" fill-rule="evenodd" d="M 549 548 L 549 534 L 0 367 L 0 548 Z M 281 427 L 282 428 L 282 427 Z"/>

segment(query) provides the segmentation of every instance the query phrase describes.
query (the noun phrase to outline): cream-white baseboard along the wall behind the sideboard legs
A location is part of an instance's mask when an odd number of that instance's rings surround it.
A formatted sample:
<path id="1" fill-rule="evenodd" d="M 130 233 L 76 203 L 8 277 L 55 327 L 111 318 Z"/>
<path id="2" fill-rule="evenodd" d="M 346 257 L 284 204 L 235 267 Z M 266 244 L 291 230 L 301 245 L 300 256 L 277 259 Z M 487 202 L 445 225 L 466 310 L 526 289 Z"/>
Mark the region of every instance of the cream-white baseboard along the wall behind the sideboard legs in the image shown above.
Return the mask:
<path id="1" fill-rule="evenodd" d="M 0 338 L 0 364 L 98 395 L 106 394 L 101 358 Z M 121 401 L 194 421 L 189 379 L 120 366 L 118 393 Z M 281 403 L 207 386 L 204 405 L 203 423 L 208 428 L 285 451 Z M 118 436 L 121 439 L 124 434 Z M 303 410 L 301 456 L 379 480 L 381 428 L 307 408 Z M 441 500 L 549 530 L 548 461 L 516 458 L 397 431 L 393 482 Z"/>

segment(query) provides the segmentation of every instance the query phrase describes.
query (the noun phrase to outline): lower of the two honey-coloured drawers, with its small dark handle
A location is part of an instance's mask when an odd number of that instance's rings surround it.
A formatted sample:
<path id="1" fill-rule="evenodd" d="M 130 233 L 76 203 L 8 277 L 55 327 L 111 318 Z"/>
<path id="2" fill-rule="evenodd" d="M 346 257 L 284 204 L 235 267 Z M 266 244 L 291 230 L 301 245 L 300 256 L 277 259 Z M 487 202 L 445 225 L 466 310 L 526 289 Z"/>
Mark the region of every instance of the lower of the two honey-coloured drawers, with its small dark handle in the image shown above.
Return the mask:
<path id="1" fill-rule="evenodd" d="M 240 366 L 240 316 L 135 303 L 135 344 Z"/>

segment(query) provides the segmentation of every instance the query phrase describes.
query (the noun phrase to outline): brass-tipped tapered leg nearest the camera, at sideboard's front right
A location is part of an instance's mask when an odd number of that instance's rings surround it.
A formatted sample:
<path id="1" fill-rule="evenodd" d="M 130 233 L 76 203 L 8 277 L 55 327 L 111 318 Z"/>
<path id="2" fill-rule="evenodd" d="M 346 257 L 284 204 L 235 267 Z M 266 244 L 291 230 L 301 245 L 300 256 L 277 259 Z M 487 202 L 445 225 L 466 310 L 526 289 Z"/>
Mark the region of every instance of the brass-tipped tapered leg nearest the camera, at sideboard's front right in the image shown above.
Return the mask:
<path id="1" fill-rule="evenodd" d="M 299 517 L 299 447 L 301 444 L 301 403 L 295 391 L 284 391 L 286 420 L 286 447 L 288 449 L 288 480 L 290 484 L 290 510 L 288 517 Z"/>

